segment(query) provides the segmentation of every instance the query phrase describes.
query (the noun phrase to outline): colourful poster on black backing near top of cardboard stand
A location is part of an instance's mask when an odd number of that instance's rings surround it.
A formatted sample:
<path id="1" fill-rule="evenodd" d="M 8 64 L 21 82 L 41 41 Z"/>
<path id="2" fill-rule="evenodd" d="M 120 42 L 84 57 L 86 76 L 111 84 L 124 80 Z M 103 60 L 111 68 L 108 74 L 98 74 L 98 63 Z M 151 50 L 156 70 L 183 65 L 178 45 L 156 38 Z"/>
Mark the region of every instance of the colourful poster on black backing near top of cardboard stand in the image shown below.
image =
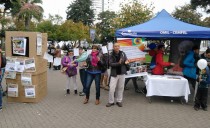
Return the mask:
<path id="1" fill-rule="evenodd" d="M 14 55 L 26 55 L 26 42 L 27 39 L 24 37 L 13 37 L 12 38 L 12 50 Z"/>

